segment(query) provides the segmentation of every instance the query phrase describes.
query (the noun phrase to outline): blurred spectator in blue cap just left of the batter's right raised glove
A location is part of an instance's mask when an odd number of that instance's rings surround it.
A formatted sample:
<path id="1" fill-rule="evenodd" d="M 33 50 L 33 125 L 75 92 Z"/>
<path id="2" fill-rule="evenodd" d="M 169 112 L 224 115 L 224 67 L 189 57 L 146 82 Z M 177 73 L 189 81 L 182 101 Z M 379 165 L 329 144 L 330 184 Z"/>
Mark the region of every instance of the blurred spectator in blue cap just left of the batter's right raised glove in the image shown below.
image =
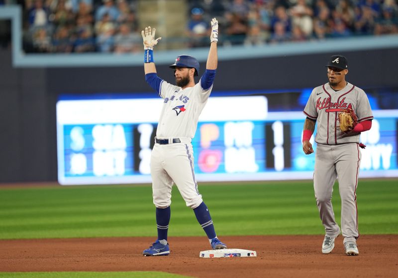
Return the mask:
<path id="1" fill-rule="evenodd" d="M 191 10 L 191 19 L 187 25 L 189 47 L 204 47 L 208 45 L 210 26 L 203 19 L 203 9 L 195 7 Z"/>

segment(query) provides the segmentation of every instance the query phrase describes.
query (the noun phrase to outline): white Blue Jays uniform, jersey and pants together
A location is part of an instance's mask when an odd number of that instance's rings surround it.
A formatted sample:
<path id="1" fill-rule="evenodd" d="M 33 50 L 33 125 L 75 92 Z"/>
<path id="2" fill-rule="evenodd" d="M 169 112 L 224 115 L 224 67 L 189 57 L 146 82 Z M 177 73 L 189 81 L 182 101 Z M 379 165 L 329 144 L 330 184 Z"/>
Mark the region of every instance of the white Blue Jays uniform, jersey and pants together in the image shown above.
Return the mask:
<path id="1" fill-rule="evenodd" d="M 182 89 L 162 80 L 159 96 L 164 99 L 156 137 L 179 138 L 181 143 L 155 144 L 151 155 L 153 203 L 157 208 L 171 204 L 175 182 L 186 205 L 193 209 L 202 202 L 194 170 L 194 138 L 198 120 L 210 95 L 212 85 L 204 90 L 200 82 Z"/>

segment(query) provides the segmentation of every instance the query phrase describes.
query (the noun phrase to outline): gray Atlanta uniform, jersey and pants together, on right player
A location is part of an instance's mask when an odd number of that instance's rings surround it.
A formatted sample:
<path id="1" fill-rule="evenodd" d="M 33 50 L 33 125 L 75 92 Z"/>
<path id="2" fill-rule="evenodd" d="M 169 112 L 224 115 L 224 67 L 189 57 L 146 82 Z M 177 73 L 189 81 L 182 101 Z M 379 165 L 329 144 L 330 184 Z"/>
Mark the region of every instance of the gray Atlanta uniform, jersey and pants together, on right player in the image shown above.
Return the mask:
<path id="1" fill-rule="evenodd" d="M 314 192 L 319 216 L 327 236 L 340 234 L 331 203 L 337 178 L 344 243 L 356 241 L 359 236 L 356 190 L 361 162 L 360 135 L 342 138 L 343 132 L 339 129 L 338 115 L 347 108 L 355 112 L 358 122 L 373 119 L 365 92 L 348 82 L 339 91 L 334 91 L 329 83 L 314 88 L 303 111 L 317 122 Z"/>

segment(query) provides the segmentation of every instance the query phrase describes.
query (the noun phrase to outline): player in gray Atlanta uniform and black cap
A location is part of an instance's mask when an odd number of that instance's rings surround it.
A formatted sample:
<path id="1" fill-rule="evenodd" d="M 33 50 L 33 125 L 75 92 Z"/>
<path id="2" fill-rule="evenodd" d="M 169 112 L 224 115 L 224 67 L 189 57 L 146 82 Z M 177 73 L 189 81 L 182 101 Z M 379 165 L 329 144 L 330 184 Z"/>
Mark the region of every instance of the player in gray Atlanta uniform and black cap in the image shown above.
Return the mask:
<path id="1" fill-rule="evenodd" d="M 370 130 L 373 115 L 366 93 L 345 80 L 348 73 L 347 59 L 341 55 L 332 56 L 326 67 L 329 82 L 312 90 L 303 111 L 307 118 L 303 128 L 302 149 L 305 154 L 313 152 L 309 139 L 317 123 L 313 183 L 316 205 L 326 234 L 322 253 L 328 254 L 333 250 L 334 239 L 340 234 L 331 203 L 333 185 L 337 178 L 345 253 L 358 255 L 356 190 L 361 162 L 360 147 L 365 147 L 359 143 L 359 137 L 361 132 Z M 349 131 L 342 132 L 339 128 L 339 114 L 346 110 L 352 110 L 358 120 Z"/>

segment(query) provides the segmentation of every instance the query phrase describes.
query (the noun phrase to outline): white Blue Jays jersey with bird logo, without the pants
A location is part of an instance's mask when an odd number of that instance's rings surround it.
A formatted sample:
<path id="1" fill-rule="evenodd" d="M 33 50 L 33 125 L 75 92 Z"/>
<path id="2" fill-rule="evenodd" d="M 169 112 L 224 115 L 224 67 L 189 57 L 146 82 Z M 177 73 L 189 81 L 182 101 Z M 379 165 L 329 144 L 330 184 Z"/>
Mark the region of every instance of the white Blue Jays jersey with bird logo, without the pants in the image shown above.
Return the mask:
<path id="1" fill-rule="evenodd" d="M 164 99 L 157 138 L 194 138 L 199 115 L 206 105 L 213 85 L 204 90 L 200 81 L 194 87 L 182 89 L 166 81 L 160 83 L 159 96 Z"/>

